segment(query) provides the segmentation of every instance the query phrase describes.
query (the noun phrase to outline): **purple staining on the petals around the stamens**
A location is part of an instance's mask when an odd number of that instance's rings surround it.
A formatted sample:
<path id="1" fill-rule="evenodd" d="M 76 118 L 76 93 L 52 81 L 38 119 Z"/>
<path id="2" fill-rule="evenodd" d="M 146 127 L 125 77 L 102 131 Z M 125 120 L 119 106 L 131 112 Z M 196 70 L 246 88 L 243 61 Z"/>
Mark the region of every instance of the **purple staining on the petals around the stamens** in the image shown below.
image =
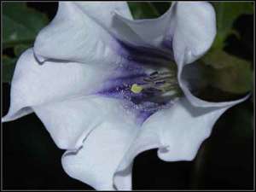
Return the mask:
<path id="1" fill-rule="evenodd" d="M 117 52 L 123 59 L 97 94 L 124 100 L 124 107 L 135 113 L 138 123 L 142 124 L 161 108 L 170 108 L 172 101 L 155 99 L 160 96 L 160 90 L 149 88 L 134 93 L 131 86 L 145 84 L 145 78 L 148 78 L 152 70 L 170 63 L 172 56 L 163 54 L 160 49 L 135 47 L 119 41 L 118 44 Z M 151 69 L 150 73 L 148 69 Z M 159 81 L 157 84 L 165 84 L 165 81 Z"/>

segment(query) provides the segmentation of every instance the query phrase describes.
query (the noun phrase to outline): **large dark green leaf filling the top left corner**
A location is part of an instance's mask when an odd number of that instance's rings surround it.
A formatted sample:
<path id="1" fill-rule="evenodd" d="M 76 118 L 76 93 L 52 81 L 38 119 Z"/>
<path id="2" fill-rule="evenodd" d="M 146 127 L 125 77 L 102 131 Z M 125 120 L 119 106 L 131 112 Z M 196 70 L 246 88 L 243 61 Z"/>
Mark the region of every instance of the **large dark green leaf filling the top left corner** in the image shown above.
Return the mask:
<path id="1" fill-rule="evenodd" d="M 46 15 L 28 8 L 26 3 L 3 3 L 3 49 L 19 44 L 31 45 L 47 23 Z"/>

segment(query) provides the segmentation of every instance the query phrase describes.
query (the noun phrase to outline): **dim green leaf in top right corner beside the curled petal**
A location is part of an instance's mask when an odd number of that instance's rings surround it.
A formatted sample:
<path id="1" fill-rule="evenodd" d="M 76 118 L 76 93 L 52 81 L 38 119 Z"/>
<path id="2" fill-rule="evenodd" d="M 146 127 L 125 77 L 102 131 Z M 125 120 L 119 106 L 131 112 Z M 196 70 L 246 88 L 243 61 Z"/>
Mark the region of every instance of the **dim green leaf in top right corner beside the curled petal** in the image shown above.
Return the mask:
<path id="1" fill-rule="evenodd" d="M 213 47 L 223 48 L 224 40 L 230 34 L 239 38 L 239 33 L 232 29 L 234 21 L 243 14 L 253 14 L 252 2 L 213 2 L 216 10 L 217 36 Z"/>

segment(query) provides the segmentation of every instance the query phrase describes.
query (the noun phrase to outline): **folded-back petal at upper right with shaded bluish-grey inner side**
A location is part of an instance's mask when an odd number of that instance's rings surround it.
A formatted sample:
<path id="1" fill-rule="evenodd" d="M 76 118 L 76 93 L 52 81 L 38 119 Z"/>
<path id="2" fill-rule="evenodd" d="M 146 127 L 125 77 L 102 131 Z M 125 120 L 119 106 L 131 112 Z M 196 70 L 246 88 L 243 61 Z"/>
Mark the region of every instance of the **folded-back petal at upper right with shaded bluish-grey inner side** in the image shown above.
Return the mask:
<path id="1" fill-rule="evenodd" d="M 112 32 L 128 44 L 167 48 L 169 54 L 172 49 L 176 61 L 184 57 L 189 63 L 210 48 L 216 34 L 215 13 L 210 3 L 177 2 L 157 19 L 129 20 L 115 14 Z"/>

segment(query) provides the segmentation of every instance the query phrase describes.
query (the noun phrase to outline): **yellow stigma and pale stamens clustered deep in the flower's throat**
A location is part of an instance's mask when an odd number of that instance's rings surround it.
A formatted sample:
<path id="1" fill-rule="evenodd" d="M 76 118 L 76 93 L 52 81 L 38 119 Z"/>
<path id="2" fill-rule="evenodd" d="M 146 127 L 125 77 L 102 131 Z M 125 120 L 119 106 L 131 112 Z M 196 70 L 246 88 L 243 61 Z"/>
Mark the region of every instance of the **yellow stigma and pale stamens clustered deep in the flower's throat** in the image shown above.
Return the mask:
<path id="1" fill-rule="evenodd" d="M 169 61 L 164 67 L 157 67 L 143 77 L 131 81 L 129 84 L 131 102 L 154 102 L 159 105 L 176 101 L 182 96 L 182 90 L 177 82 L 177 67 Z"/>

